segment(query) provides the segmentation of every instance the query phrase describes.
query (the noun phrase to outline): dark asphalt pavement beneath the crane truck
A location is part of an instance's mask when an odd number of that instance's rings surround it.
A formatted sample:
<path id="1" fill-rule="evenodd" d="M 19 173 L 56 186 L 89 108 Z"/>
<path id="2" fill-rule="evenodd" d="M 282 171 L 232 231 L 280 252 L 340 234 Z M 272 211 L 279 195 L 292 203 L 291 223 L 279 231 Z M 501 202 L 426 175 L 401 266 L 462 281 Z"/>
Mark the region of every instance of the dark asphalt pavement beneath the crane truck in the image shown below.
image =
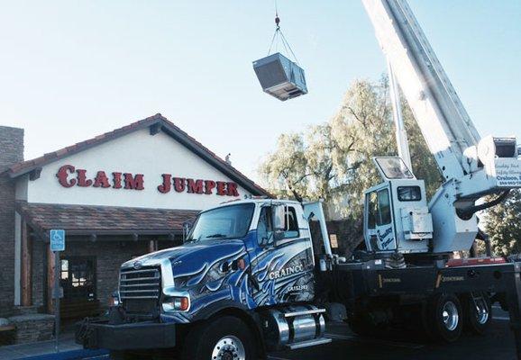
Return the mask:
<path id="1" fill-rule="evenodd" d="M 514 335 L 509 328 L 508 313 L 494 306 L 489 331 L 483 336 L 464 333 L 453 344 L 431 344 L 417 334 L 396 333 L 388 338 L 361 338 L 344 324 L 329 325 L 326 336 L 330 344 L 294 351 L 272 353 L 268 360 L 516 360 Z M 108 359 L 108 356 L 89 360 Z"/>

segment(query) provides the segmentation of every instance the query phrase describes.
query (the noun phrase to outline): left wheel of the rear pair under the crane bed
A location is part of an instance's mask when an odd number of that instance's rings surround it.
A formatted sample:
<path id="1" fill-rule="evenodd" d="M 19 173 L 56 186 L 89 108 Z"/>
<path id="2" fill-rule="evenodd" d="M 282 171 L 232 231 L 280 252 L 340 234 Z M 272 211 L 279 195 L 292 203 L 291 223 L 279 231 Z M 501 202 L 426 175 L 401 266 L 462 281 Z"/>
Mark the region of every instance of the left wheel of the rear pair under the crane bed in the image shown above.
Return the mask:
<path id="1" fill-rule="evenodd" d="M 462 305 L 452 293 L 434 295 L 425 306 L 424 328 L 435 341 L 452 343 L 462 335 Z"/>

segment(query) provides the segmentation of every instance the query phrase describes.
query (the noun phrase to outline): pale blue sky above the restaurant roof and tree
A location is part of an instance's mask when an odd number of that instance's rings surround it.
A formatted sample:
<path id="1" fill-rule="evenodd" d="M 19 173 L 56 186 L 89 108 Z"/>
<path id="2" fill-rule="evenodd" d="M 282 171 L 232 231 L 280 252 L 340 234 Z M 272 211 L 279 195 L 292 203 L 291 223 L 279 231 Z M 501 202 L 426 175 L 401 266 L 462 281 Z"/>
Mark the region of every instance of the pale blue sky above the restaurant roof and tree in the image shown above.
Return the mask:
<path id="1" fill-rule="evenodd" d="M 280 133 L 328 121 L 355 79 L 386 71 L 360 0 L 278 1 L 309 89 L 287 102 L 251 67 L 273 1 L 0 4 L 0 125 L 25 130 L 26 159 L 160 112 L 259 181 Z M 521 1 L 409 4 L 481 136 L 521 139 Z"/>

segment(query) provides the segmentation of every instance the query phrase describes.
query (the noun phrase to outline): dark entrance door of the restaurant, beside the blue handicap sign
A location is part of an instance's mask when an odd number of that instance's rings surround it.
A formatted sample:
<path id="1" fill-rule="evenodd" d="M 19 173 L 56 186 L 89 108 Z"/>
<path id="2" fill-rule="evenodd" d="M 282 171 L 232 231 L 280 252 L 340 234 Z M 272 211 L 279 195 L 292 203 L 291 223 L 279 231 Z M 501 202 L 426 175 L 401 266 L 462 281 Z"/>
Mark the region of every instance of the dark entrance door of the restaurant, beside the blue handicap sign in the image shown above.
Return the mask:
<path id="1" fill-rule="evenodd" d="M 63 319 L 92 316 L 99 311 L 96 299 L 96 257 L 64 257 L 60 260 L 59 284 L 63 289 Z"/>

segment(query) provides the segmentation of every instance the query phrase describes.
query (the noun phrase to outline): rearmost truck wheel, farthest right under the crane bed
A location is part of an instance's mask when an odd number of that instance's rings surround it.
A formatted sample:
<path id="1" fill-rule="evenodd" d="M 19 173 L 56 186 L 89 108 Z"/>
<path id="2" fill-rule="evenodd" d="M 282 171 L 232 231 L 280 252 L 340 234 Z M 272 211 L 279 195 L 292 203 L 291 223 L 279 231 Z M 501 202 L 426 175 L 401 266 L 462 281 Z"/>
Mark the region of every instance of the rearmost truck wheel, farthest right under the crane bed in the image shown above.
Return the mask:
<path id="1" fill-rule="evenodd" d="M 489 328 L 492 320 L 492 306 L 487 293 L 475 293 L 472 298 L 469 294 L 463 301 L 463 315 L 465 329 L 477 335 L 483 335 Z"/>

